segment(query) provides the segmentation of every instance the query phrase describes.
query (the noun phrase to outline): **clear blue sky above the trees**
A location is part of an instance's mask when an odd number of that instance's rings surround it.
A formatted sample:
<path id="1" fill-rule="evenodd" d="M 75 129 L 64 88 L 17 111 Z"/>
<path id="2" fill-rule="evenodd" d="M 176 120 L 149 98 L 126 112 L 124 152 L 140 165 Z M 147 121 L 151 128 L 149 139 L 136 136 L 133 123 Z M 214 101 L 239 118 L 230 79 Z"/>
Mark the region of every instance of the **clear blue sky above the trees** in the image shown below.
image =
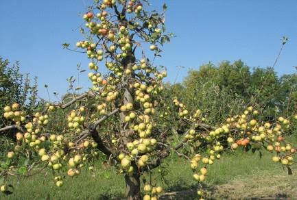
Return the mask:
<path id="1" fill-rule="evenodd" d="M 1 0 L 0 56 L 21 62 L 21 71 L 38 77 L 40 97 L 47 97 L 43 87 L 63 94 L 66 78 L 77 74 L 76 64 L 87 68 L 82 53 L 62 49 L 80 40 L 80 13 L 91 0 Z M 289 42 L 276 65 L 276 71 L 294 73 L 297 65 L 296 0 L 152 0 L 154 8 L 167 3 L 167 30 L 176 38 L 163 48 L 156 64 L 167 66 L 167 81 L 178 82 L 189 68 L 199 68 L 209 61 L 241 59 L 248 66 L 272 66 L 281 37 Z M 86 74 L 80 77 L 86 89 Z"/>

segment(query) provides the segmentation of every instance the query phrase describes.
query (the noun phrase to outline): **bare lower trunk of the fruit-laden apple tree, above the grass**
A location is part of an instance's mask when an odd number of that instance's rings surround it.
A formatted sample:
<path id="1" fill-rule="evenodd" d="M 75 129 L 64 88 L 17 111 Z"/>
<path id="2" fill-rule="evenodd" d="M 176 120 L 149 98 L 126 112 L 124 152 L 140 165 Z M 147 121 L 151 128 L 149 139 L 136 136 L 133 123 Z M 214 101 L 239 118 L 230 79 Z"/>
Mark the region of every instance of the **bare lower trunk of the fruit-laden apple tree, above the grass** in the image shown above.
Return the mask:
<path id="1" fill-rule="evenodd" d="M 125 175 L 126 181 L 126 197 L 128 200 L 141 200 L 140 194 L 140 175 L 133 173 Z"/>

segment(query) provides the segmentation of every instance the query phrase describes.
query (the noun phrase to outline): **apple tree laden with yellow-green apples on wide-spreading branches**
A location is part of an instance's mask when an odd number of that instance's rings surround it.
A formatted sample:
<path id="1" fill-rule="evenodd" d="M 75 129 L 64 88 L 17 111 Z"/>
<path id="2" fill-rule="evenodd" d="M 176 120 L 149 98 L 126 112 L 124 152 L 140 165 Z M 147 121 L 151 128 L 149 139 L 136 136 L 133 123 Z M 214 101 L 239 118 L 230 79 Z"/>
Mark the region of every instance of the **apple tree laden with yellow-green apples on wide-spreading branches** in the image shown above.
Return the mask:
<path id="1" fill-rule="evenodd" d="M 69 179 L 80 175 L 84 163 L 104 155 L 123 174 L 127 199 L 141 199 L 141 175 L 176 153 L 189 163 L 185 167 L 192 168 L 202 199 L 207 166 L 226 149 L 267 149 L 274 162 L 290 171 L 296 149 L 283 136 L 297 116 L 263 122 L 251 105 L 221 124 L 209 125 L 201 110 L 187 110 L 178 98 L 167 98 L 162 83 L 165 67 L 154 66 L 172 36 L 165 33 L 167 6 L 160 13 L 149 5 L 147 0 L 94 1 L 83 15 L 85 38 L 75 49 L 90 59 L 88 79 L 93 86 L 67 102 L 48 103 L 33 116 L 27 116 L 17 102 L 6 105 L 3 116 L 10 125 L 0 131 L 19 132 L 14 149 L 1 162 L 1 177 L 50 168 L 60 187 L 67 182 L 64 175 Z M 150 53 L 145 55 L 145 49 Z M 56 123 L 59 132 L 49 126 L 56 120 L 56 110 L 69 110 L 64 123 Z M 174 126 L 185 130 L 178 138 L 172 137 Z M 201 149 L 205 153 L 197 153 Z M 1 191 L 10 191 L 10 185 L 3 183 Z M 143 191 L 143 199 L 158 199 L 163 188 L 147 181 Z"/>

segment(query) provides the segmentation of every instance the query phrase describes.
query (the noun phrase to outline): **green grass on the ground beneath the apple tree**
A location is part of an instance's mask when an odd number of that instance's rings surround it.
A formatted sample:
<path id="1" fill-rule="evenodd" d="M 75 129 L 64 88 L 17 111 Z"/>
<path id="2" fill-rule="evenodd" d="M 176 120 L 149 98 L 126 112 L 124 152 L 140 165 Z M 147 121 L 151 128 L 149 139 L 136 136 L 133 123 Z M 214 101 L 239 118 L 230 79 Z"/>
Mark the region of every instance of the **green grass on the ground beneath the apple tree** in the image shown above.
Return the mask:
<path id="1" fill-rule="evenodd" d="M 270 182 L 274 181 L 274 184 L 278 184 L 278 179 L 282 180 L 282 183 L 296 179 L 296 175 L 288 176 L 287 171 L 283 170 L 280 164 L 274 164 L 271 158 L 272 155 L 266 151 L 263 152 L 261 159 L 259 158 L 259 153 L 253 154 L 251 152 L 239 151 L 233 154 L 225 154 L 215 164 L 209 166 L 209 174 L 205 185 L 206 190 L 209 190 L 210 197 L 222 195 L 222 192 L 226 197 L 229 197 L 230 193 L 228 191 L 236 190 L 237 187 L 233 187 L 230 183 L 234 185 L 249 183 L 249 190 L 252 191 L 254 189 L 257 190 L 257 183 L 261 183 L 265 178 L 268 178 L 268 180 L 262 184 L 266 186 L 269 186 Z M 197 183 L 192 178 L 193 173 L 191 168 L 189 168 L 189 164 L 178 158 L 169 158 L 165 161 L 165 165 L 168 172 L 165 179 L 161 179 L 161 175 L 157 171 L 152 173 L 152 179 L 161 180 L 158 185 L 163 186 L 165 192 L 169 192 L 169 194 L 178 190 L 190 190 L 191 192 L 185 194 L 187 197 L 182 199 L 193 199 L 193 197 L 196 197 L 193 194 L 196 191 Z M 292 171 L 293 173 L 297 171 L 296 166 L 292 166 Z M 147 179 L 149 176 L 147 174 L 144 178 Z M 276 179 L 269 181 L 274 176 Z M 10 181 L 14 185 L 14 192 L 12 195 L 5 197 L 0 195 L 0 199 L 122 199 L 125 194 L 123 175 L 118 175 L 112 168 L 107 173 L 104 173 L 100 166 L 96 166 L 93 173 L 82 171 L 82 174 L 78 177 L 73 179 L 67 177 L 64 180 L 64 186 L 61 188 L 57 188 L 53 180 L 54 175 L 50 172 L 46 176 L 35 175 L 19 181 L 12 178 Z M 245 187 L 248 188 L 249 186 Z M 240 190 L 243 190 L 245 187 L 243 186 Z M 297 186 L 288 186 L 286 184 L 280 185 L 278 190 L 283 190 L 287 187 L 297 191 Z M 222 188 L 222 191 L 220 188 Z M 250 191 L 246 191 L 246 194 L 249 194 Z M 171 196 L 167 197 L 165 195 L 164 198 L 170 199 Z M 180 199 L 178 197 L 172 198 Z"/>

